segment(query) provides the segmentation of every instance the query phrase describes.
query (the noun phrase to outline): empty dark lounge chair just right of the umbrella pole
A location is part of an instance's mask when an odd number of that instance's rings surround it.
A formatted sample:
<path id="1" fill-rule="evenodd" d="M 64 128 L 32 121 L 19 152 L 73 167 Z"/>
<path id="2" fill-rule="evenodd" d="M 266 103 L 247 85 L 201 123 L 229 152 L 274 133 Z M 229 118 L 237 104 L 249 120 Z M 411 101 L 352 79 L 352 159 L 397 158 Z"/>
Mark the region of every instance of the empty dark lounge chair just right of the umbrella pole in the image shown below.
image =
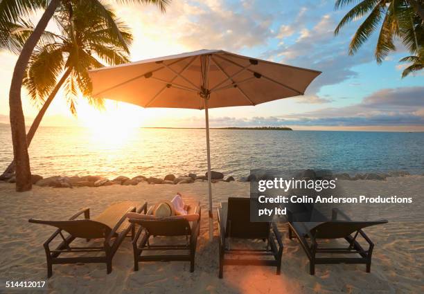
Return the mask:
<path id="1" fill-rule="evenodd" d="M 283 242 L 275 223 L 259 223 L 250 221 L 250 199 L 233 198 L 228 203 L 221 203 L 218 208 L 218 230 L 220 250 L 219 277 L 222 278 L 224 266 L 276 266 L 276 274 L 281 272 L 281 256 L 283 255 Z M 262 239 L 267 241 L 265 249 L 232 249 L 226 244 L 228 239 Z M 275 243 L 275 239 L 278 244 Z M 226 259 L 225 255 L 255 256 L 256 259 Z M 270 256 L 273 259 L 258 259 Z"/>

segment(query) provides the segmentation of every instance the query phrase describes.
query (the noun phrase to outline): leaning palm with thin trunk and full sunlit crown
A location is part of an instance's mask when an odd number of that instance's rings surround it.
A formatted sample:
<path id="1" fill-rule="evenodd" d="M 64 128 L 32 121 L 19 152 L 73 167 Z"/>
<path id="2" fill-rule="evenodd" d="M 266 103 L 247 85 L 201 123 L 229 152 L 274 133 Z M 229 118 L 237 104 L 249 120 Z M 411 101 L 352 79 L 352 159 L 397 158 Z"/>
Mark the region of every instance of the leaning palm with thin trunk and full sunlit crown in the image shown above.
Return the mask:
<path id="1" fill-rule="evenodd" d="M 76 113 L 74 99 L 77 88 L 90 104 L 101 107 L 103 100 L 90 97 L 91 82 L 88 69 L 103 66 L 96 57 L 109 65 L 129 62 L 127 54 L 132 35 L 127 26 L 116 19 L 112 9 L 108 6 L 105 8 L 114 19 L 114 26 L 118 28 L 125 43 L 122 44 L 121 37 L 103 21 L 96 7 L 87 3 L 78 5 L 71 3 L 69 6 L 60 6 L 54 17 L 60 34 L 44 32 L 33 51 L 26 69 L 24 86 L 28 89 L 31 100 L 35 104 L 41 104 L 42 108 L 26 135 L 28 147 L 46 110 L 63 84 L 66 85 L 66 98 L 73 114 Z M 9 27 L 12 30 L 8 33 L 7 48 L 19 53 L 33 31 L 33 25 L 21 19 Z M 62 72 L 63 75 L 57 82 L 57 77 Z M 12 174 L 14 169 L 15 164 L 12 161 L 3 175 Z"/>

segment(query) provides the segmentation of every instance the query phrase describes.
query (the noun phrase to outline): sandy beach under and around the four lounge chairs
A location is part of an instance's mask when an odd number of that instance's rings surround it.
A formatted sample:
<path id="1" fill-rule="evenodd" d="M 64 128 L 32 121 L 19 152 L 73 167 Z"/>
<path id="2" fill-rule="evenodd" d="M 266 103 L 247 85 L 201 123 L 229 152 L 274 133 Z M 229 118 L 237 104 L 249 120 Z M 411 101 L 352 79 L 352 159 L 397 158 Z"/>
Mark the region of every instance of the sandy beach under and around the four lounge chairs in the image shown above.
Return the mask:
<path id="1" fill-rule="evenodd" d="M 49 293 L 423 293 L 424 223 L 416 223 L 424 201 L 420 196 L 424 176 L 390 178 L 390 181 L 344 181 L 346 190 L 362 186 L 364 193 L 414 196 L 414 205 L 388 212 L 404 214 L 404 222 L 389 222 L 366 230 L 376 248 L 371 273 L 363 265 L 319 265 L 315 276 L 308 274 L 308 259 L 296 240 L 283 234 L 282 272 L 274 268 L 226 266 L 224 279 L 218 279 L 218 240 L 208 241 L 206 213 L 195 260 L 195 272 L 188 262 L 141 264 L 134 272 L 132 244 L 125 240 L 113 260 L 113 271 L 106 274 L 104 264 L 55 265 L 48 279 Z M 38 219 L 64 219 L 79 208 L 89 207 L 95 216 L 111 203 L 130 200 L 155 203 L 169 200 L 181 192 L 188 203 L 200 201 L 207 210 L 207 183 L 185 185 L 114 185 L 109 187 L 52 188 L 34 186 L 17 193 L 15 185 L 0 184 L 1 226 L 0 275 L 12 280 L 46 279 L 43 242 L 53 228 L 28 223 Z M 215 183 L 214 205 L 229 196 L 248 196 L 249 183 Z M 214 209 L 215 211 L 215 209 Z M 399 216 L 397 216 L 399 217 Z M 390 219 L 389 219 L 390 221 Z"/>

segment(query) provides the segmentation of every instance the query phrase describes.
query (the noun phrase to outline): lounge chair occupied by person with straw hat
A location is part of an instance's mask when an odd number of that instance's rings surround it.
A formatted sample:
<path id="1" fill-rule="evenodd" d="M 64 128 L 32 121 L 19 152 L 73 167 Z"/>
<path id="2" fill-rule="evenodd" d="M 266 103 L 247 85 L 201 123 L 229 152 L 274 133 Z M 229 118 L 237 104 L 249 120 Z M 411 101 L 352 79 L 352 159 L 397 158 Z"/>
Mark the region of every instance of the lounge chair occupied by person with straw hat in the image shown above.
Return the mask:
<path id="1" fill-rule="evenodd" d="M 134 270 L 139 270 L 139 261 L 190 261 L 190 272 L 193 273 L 197 237 L 200 232 L 200 203 L 195 206 L 191 206 L 188 209 L 188 214 L 191 216 L 195 215 L 197 220 L 188 221 L 186 218 L 179 215 L 161 219 L 154 219 L 154 217 L 150 219 L 133 219 L 130 217 L 131 223 L 137 223 L 140 225 L 140 228 L 136 232 L 132 241 L 134 249 Z M 142 236 L 141 239 L 140 236 Z M 150 244 L 150 237 L 155 236 L 185 236 L 186 244 Z M 179 255 L 161 254 L 160 252 L 164 250 L 185 250 L 188 251 L 188 253 Z M 143 255 L 143 252 L 147 251 L 159 253 L 157 255 Z"/>

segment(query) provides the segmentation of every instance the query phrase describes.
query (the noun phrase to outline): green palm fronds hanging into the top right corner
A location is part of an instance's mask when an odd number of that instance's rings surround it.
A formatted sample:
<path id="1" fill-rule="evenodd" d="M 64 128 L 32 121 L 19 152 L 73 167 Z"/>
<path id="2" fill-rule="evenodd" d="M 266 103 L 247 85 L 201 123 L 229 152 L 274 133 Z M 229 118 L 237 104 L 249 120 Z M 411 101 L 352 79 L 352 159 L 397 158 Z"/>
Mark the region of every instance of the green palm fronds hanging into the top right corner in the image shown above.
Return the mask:
<path id="1" fill-rule="evenodd" d="M 337 0 L 335 8 L 342 8 L 356 0 Z M 371 34 L 380 27 L 374 55 L 378 63 L 396 50 L 394 39 L 399 38 L 409 52 L 415 54 L 421 50 L 424 42 L 423 19 L 419 13 L 421 4 L 407 0 L 362 0 L 357 3 L 339 22 L 335 35 L 349 22 L 365 17 L 351 39 L 348 52 L 353 55 L 366 42 Z"/>

